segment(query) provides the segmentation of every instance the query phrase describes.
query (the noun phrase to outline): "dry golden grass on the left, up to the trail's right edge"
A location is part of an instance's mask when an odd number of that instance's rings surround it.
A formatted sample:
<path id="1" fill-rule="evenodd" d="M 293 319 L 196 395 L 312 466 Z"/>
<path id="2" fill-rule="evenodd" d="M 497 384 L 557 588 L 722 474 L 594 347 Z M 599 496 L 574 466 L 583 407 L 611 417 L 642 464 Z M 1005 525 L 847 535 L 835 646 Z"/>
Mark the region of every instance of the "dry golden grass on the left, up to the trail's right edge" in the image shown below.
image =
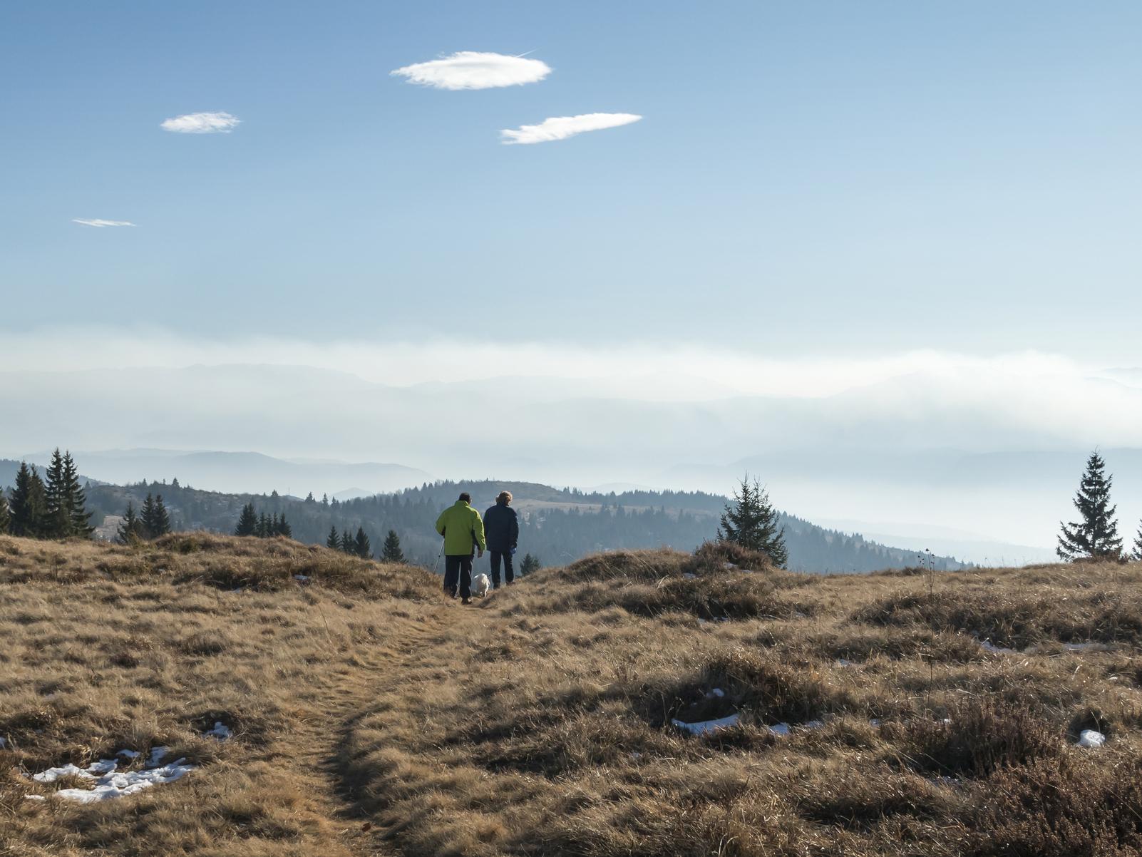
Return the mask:
<path id="1" fill-rule="evenodd" d="M 336 742 L 431 626 L 427 572 L 284 539 L 0 537 L 0 854 L 359 852 Z M 25 798 L 61 785 L 27 772 L 158 745 L 201 767 L 98 806 Z"/>

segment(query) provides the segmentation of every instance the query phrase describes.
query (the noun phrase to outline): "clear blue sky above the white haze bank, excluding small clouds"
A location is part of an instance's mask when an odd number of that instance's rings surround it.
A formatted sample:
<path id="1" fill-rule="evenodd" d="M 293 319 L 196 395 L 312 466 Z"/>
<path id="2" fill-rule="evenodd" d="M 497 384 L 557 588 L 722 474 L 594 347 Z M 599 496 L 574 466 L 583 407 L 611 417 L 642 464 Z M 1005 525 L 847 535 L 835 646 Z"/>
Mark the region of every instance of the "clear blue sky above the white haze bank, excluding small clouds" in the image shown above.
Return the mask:
<path id="1" fill-rule="evenodd" d="M 0 334 L 1132 363 L 1140 32 L 1133 2 L 6 3 Z M 458 50 L 553 72 L 389 74 Z M 198 111 L 241 125 L 159 127 Z M 590 112 L 643 120 L 499 139 Z"/>

